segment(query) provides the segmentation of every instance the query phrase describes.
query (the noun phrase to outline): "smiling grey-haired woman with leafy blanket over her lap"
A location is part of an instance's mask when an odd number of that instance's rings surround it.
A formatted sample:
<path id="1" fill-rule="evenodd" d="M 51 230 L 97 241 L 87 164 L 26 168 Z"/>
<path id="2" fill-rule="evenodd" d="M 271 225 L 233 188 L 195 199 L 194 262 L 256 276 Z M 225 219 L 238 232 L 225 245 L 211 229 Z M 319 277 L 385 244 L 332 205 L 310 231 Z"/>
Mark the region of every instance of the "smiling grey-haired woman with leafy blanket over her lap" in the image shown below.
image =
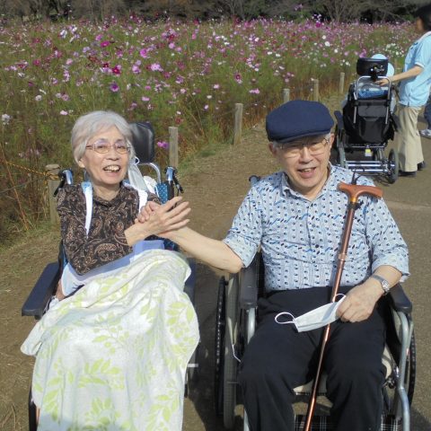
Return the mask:
<path id="1" fill-rule="evenodd" d="M 130 140 L 114 112 L 84 115 L 72 130 L 75 161 L 90 181 L 58 194 L 68 260 L 61 301 L 22 345 L 36 356 L 39 430 L 181 429 L 198 323 L 182 292 L 189 266 L 154 250 L 162 242 L 151 237 L 187 224 L 189 207 L 173 198 L 138 221 L 157 198 L 124 182 L 135 159 Z"/>

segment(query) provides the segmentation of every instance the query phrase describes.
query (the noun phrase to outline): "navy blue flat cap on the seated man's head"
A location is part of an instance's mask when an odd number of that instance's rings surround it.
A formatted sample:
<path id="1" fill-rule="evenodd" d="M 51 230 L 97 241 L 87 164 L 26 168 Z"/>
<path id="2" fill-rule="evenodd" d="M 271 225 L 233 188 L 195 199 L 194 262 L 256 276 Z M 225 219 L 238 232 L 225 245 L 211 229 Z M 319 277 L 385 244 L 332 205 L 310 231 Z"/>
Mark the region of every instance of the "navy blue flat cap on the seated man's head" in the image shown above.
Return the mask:
<path id="1" fill-rule="evenodd" d="M 333 125 L 330 111 L 319 101 L 288 101 L 267 115 L 268 140 L 281 144 L 326 135 Z"/>

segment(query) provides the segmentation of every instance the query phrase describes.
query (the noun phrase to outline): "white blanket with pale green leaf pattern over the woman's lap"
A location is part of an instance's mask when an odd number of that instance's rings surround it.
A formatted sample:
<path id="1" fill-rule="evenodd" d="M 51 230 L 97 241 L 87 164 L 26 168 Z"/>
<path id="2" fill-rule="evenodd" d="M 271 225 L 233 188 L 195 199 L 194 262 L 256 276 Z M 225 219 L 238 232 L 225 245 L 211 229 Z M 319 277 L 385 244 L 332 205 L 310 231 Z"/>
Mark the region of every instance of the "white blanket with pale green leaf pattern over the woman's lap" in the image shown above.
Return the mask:
<path id="1" fill-rule="evenodd" d="M 36 356 L 38 430 L 181 429 L 199 338 L 182 291 L 189 271 L 178 253 L 145 251 L 43 316 L 22 344 Z"/>

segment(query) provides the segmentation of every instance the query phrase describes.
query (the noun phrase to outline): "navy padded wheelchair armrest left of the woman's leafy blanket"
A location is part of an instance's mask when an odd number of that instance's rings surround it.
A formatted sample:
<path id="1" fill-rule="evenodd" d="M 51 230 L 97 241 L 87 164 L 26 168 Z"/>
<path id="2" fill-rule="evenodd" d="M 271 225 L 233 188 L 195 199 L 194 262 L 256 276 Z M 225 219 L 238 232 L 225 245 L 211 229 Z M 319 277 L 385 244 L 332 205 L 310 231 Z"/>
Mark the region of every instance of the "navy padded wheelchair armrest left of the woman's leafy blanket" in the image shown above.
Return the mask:
<path id="1" fill-rule="evenodd" d="M 42 317 L 49 298 L 56 291 L 59 278 L 60 266 L 58 262 L 48 263 L 22 305 L 22 316 L 34 316 L 35 319 Z"/>

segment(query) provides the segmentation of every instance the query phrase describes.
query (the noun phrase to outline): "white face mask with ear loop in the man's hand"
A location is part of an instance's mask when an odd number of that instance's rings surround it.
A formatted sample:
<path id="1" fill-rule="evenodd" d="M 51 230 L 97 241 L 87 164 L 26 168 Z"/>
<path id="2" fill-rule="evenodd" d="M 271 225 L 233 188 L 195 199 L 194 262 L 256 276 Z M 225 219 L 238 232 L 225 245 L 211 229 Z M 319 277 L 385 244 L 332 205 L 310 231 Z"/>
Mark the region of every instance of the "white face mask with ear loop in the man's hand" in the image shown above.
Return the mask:
<path id="1" fill-rule="evenodd" d="M 279 312 L 274 320 L 280 325 L 293 323 L 298 332 L 317 330 L 318 328 L 329 325 L 332 321 L 336 321 L 338 319 L 337 310 L 339 309 L 339 304 L 346 298 L 346 295 L 342 296 L 343 297 L 338 303 L 326 303 L 325 305 L 321 305 L 321 307 L 315 308 L 314 310 L 306 312 L 298 317 L 294 317 L 290 312 Z M 285 315 L 291 317 L 292 321 L 279 321 L 279 318 Z"/>

